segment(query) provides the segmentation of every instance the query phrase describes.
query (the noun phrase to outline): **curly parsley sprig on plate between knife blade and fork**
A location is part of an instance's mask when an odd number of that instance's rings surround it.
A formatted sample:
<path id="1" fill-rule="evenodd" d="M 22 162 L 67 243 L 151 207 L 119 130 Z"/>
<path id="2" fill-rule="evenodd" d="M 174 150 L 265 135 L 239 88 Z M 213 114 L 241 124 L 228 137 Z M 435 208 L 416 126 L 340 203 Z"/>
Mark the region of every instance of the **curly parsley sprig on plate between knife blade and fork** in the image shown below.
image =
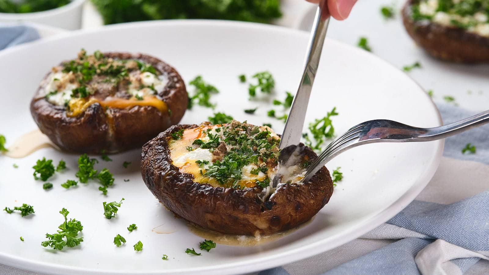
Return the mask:
<path id="1" fill-rule="evenodd" d="M 309 131 L 312 134 L 312 138 L 314 139 L 315 144 L 312 144 L 312 140 L 309 137 L 309 134 L 305 133 L 302 134 L 302 137 L 306 139 L 305 143 L 307 146 L 311 147 L 315 151 L 320 151 L 326 139 L 333 138 L 334 127 L 331 117 L 334 115 L 338 115 L 338 113 L 336 113 L 336 107 L 334 107 L 331 112 L 328 112 L 325 117 L 321 119 L 315 119 L 314 122 L 309 123 Z"/>

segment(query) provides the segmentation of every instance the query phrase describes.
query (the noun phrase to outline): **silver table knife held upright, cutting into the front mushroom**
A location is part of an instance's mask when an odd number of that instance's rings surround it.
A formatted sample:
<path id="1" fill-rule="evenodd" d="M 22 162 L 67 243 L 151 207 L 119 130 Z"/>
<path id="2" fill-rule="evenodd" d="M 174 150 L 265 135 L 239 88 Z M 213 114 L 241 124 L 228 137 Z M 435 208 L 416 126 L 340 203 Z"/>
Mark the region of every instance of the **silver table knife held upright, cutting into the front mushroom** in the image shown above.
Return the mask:
<path id="1" fill-rule="evenodd" d="M 311 29 L 308 51 L 304 61 L 304 73 L 285 122 L 284 132 L 279 144 L 280 149 L 289 145 L 297 145 L 301 140 L 312 84 L 319 66 L 319 59 L 329 23 L 330 16 L 328 14 L 327 1 L 321 0 Z"/>

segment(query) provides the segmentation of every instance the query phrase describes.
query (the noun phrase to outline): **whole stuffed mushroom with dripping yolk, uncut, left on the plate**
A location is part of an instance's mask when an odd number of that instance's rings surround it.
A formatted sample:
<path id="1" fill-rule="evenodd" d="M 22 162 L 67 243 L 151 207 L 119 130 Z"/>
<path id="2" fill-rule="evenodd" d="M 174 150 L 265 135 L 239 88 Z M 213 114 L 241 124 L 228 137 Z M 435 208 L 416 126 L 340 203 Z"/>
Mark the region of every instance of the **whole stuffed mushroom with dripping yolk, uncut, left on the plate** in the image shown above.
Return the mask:
<path id="1" fill-rule="evenodd" d="M 114 153 L 177 124 L 187 98 L 178 72 L 155 57 L 82 50 L 44 77 L 30 110 L 60 149 Z"/>

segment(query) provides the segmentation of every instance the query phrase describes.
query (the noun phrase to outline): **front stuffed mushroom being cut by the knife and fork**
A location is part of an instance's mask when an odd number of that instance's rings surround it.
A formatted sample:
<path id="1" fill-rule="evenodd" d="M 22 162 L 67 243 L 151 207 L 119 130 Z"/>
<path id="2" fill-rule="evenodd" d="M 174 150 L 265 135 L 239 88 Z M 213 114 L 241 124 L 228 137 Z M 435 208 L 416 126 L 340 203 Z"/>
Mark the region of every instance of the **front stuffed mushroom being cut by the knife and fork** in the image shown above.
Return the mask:
<path id="1" fill-rule="evenodd" d="M 269 127 L 235 120 L 176 125 L 143 146 L 141 174 L 163 205 L 205 229 L 287 230 L 328 203 L 333 182 L 326 167 L 301 182 L 316 154 L 300 144 L 279 161 L 279 141 Z"/>

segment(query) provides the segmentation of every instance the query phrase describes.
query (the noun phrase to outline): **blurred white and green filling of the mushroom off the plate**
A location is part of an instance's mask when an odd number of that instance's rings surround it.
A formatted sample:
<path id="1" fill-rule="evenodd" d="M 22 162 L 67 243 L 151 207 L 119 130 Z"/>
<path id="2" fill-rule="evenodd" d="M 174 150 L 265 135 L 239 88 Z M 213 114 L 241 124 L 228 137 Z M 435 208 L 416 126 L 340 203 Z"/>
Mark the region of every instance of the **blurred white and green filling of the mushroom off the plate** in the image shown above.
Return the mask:
<path id="1" fill-rule="evenodd" d="M 489 37 L 488 0 L 421 0 L 412 6 L 412 18 Z"/>

